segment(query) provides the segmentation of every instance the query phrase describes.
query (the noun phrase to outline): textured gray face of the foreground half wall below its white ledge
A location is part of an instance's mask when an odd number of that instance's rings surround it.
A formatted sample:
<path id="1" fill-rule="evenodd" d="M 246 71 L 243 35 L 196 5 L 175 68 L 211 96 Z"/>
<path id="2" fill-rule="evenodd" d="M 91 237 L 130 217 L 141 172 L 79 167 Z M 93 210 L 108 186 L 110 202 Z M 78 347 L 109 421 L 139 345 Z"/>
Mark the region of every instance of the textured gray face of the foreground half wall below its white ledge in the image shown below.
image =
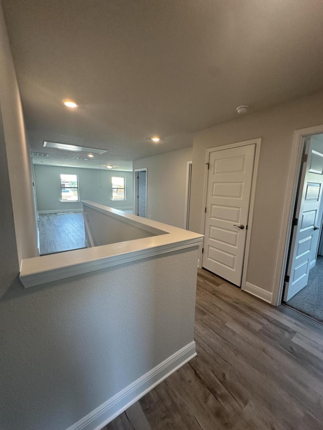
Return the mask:
<path id="1" fill-rule="evenodd" d="M 0 299 L 0 428 L 66 430 L 193 340 L 197 249 Z"/>

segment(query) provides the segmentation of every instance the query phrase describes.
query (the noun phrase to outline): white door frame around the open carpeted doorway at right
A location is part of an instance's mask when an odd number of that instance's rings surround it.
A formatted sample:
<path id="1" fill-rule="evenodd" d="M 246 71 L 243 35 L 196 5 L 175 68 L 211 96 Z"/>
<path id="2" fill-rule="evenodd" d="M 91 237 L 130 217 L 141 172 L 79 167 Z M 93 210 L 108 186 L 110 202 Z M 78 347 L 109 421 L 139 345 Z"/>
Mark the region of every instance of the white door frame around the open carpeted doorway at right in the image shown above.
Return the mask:
<path id="1" fill-rule="evenodd" d="M 280 240 L 277 253 L 276 271 L 274 276 L 274 289 L 272 304 L 278 306 L 282 302 L 284 278 L 288 257 L 288 249 L 292 234 L 293 213 L 296 203 L 298 178 L 301 170 L 301 161 L 304 148 L 304 138 L 308 135 L 323 133 L 323 125 L 295 130 L 290 158 L 283 220 L 280 231 Z"/>

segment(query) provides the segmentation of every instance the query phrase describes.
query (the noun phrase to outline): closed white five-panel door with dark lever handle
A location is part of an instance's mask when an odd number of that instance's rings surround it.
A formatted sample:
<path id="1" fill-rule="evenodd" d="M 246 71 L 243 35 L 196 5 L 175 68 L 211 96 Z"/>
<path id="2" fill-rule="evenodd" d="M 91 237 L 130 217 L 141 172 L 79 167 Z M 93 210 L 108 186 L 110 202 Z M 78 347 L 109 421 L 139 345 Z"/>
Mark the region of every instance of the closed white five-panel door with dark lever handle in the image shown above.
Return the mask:
<path id="1" fill-rule="evenodd" d="M 211 152 L 202 266 L 241 286 L 255 145 Z"/>

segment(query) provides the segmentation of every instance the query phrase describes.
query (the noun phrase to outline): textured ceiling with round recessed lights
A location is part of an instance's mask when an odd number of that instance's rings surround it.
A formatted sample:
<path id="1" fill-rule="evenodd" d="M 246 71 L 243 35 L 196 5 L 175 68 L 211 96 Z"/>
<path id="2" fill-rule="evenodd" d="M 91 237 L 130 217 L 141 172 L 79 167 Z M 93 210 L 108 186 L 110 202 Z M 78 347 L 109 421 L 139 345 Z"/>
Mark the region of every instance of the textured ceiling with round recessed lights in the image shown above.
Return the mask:
<path id="1" fill-rule="evenodd" d="M 321 0 L 2 3 L 33 151 L 97 147 L 101 164 L 131 170 L 191 146 L 238 105 L 252 113 L 323 88 Z"/>

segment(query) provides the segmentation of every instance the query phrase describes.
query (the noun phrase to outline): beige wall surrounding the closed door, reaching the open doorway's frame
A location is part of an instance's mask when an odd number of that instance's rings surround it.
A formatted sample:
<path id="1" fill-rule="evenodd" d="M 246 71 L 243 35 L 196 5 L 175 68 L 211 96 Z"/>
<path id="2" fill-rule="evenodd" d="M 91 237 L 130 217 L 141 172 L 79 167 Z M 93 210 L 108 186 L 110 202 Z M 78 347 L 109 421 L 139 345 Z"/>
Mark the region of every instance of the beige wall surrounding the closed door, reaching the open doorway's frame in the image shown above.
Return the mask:
<path id="1" fill-rule="evenodd" d="M 289 158 L 296 129 L 323 124 L 323 93 L 301 98 L 196 133 L 190 230 L 201 232 L 206 148 L 262 138 L 247 282 L 273 291 Z"/>

